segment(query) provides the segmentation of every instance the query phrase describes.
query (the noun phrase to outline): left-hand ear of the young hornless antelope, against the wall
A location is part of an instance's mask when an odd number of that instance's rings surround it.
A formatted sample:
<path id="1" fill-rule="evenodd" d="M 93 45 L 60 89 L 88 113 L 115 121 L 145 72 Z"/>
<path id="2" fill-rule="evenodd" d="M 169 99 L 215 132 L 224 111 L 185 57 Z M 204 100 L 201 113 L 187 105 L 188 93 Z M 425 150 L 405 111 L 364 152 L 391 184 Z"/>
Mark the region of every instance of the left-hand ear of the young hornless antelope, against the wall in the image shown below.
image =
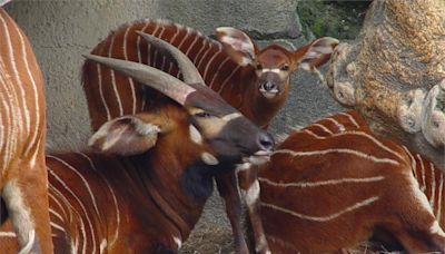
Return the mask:
<path id="1" fill-rule="evenodd" d="M 254 62 L 257 46 L 249 36 L 230 27 L 217 28 L 216 35 L 226 52 L 235 62 L 240 66 L 247 66 Z"/>

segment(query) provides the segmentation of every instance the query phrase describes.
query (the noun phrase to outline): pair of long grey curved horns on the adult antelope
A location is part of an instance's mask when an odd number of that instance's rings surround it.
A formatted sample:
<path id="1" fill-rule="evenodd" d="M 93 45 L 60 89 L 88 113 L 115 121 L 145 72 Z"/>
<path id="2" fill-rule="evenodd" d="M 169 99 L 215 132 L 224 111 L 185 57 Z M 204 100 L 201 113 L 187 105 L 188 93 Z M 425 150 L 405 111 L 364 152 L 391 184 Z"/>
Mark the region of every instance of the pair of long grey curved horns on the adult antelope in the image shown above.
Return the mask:
<path id="1" fill-rule="evenodd" d="M 178 68 L 182 74 L 184 81 L 159 69 L 139 62 L 99 57 L 96 55 L 83 55 L 83 57 L 102 63 L 113 70 L 120 71 L 123 75 L 127 75 L 128 77 L 162 92 L 164 95 L 178 101 L 180 105 L 185 105 L 187 96 L 196 91 L 195 88 L 188 86 L 187 84 L 205 84 L 195 65 L 186 55 L 167 41 L 140 31 L 137 31 L 137 33 L 141 36 L 148 43 L 155 46 L 158 50 L 176 60 Z"/>

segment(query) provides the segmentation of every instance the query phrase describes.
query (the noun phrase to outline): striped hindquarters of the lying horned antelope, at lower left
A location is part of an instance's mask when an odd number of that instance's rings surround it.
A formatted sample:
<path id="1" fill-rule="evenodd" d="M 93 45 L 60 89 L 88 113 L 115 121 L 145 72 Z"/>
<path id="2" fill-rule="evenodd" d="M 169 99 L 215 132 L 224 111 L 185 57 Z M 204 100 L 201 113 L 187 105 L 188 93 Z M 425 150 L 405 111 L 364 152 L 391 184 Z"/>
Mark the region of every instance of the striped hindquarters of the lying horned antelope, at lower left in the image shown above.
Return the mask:
<path id="1" fill-rule="evenodd" d="M 120 225 L 110 183 L 87 154 L 48 155 L 47 162 L 55 251 L 102 253 Z"/>

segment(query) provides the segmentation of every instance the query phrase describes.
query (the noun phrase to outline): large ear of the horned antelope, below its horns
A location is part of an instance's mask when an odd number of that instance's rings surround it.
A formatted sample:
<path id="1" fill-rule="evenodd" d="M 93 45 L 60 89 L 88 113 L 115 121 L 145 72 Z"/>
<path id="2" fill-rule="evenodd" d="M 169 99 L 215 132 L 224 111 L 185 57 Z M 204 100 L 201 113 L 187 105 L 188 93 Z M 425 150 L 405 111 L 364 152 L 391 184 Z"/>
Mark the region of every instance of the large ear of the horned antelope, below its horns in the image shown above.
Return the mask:
<path id="1" fill-rule="evenodd" d="M 105 123 L 88 145 L 107 154 L 137 155 L 156 145 L 160 127 L 138 116 L 123 116 Z"/>

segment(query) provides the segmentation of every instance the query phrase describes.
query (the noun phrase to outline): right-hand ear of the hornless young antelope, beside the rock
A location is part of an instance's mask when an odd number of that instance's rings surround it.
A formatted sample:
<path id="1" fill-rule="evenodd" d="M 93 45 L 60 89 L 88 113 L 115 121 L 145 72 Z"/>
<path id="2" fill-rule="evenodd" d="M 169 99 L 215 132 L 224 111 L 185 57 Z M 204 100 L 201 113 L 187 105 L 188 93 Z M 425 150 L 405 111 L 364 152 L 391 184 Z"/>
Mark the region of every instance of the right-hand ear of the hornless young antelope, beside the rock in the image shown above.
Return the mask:
<path id="1" fill-rule="evenodd" d="M 323 66 L 329 60 L 330 53 L 333 53 L 337 45 L 337 39 L 323 37 L 297 49 L 294 53 L 294 59 L 297 60 L 301 69 L 313 71 L 314 68 Z"/>

